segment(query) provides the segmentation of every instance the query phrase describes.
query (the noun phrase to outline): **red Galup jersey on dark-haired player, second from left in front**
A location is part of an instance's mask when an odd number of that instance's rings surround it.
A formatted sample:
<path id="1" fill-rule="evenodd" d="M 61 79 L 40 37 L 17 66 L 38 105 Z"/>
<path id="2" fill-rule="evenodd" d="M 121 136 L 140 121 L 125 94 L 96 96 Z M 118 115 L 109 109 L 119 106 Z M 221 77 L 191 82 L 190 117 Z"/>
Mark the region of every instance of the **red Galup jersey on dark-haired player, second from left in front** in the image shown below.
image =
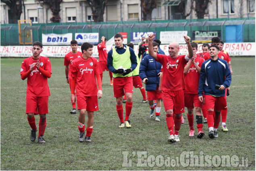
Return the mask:
<path id="1" fill-rule="evenodd" d="M 96 74 L 102 74 L 100 63 L 96 58 L 85 60 L 82 56 L 71 64 L 72 77 L 77 77 L 77 95 L 97 96 Z"/>

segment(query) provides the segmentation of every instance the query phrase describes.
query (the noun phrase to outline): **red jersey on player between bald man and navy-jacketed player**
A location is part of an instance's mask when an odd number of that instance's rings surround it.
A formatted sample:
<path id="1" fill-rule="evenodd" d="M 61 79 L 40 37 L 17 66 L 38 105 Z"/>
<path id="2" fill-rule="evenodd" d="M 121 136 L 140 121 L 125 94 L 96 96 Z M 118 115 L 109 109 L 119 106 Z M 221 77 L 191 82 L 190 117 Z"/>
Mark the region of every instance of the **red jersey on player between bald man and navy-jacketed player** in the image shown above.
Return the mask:
<path id="1" fill-rule="evenodd" d="M 201 68 L 204 58 L 196 57 L 196 64 Z M 200 73 L 196 70 L 196 67 L 192 63 L 187 74 L 185 74 L 185 84 L 186 89 L 183 90 L 186 94 L 198 94 L 198 85 L 199 85 Z"/>

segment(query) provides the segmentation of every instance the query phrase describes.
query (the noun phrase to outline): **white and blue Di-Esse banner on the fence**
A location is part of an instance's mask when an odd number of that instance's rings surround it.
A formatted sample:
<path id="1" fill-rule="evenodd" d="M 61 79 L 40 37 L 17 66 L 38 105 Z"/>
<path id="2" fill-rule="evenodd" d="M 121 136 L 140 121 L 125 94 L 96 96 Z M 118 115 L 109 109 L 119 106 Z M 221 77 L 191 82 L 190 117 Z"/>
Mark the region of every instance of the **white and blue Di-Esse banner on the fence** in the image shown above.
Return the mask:
<path id="1" fill-rule="evenodd" d="M 99 43 L 99 33 L 75 33 L 77 44 L 81 45 L 84 42 L 97 45 Z"/>

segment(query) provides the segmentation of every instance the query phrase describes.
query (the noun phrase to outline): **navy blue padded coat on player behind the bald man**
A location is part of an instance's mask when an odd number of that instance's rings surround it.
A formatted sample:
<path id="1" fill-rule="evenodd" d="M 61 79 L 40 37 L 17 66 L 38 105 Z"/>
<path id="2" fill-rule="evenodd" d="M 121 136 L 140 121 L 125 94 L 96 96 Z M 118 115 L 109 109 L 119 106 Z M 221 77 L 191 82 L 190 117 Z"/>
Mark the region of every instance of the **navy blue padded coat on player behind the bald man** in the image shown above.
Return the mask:
<path id="1" fill-rule="evenodd" d="M 139 66 L 139 77 L 142 78 L 142 80 L 148 78 L 146 91 L 155 91 L 156 87 L 159 86 L 160 78 L 157 74 L 161 71 L 161 67 L 162 64 L 156 62 L 149 54 L 142 58 L 142 62 Z"/>

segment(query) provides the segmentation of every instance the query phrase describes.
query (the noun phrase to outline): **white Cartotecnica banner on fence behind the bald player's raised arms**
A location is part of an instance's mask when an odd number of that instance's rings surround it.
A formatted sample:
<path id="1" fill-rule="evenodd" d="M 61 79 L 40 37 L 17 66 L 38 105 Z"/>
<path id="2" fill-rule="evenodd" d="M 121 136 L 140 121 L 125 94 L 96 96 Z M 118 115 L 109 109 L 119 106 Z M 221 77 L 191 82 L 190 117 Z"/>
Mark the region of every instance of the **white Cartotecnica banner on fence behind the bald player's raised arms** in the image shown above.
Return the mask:
<path id="1" fill-rule="evenodd" d="M 186 43 L 184 35 L 187 35 L 187 31 L 160 31 L 160 41 L 162 44 L 169 44 L 173 41 Z"/>

